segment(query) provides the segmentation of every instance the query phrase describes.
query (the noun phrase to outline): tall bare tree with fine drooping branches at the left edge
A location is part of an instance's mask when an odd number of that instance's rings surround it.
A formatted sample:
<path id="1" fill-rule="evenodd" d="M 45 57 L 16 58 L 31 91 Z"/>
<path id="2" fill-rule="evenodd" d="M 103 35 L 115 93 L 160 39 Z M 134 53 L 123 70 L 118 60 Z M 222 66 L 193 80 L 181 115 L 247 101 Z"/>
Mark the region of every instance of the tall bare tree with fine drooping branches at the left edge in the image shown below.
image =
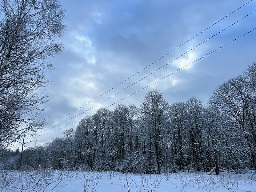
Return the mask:
<path id="1" fill-rule="evenodd" d="M 0 1 L 0 146 L 20 142 L 45 120 L 38 120 L 47 96 L 46 59 L 60 53 L 65 31 L 59 0 Z"/>

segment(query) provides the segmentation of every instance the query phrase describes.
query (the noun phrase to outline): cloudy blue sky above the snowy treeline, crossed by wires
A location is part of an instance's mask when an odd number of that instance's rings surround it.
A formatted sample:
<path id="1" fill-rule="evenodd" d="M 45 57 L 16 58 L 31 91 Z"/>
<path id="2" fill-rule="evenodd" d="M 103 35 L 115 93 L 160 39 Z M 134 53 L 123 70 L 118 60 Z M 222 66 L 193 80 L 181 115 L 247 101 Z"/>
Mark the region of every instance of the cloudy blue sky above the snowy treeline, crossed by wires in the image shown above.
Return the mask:
<path id="1" fill-rule="evenodd" d="M 40 118 L 48 118 L 48 123 L 51 123 L 83 106 L 248 1 L 61 0 L 60 4 L 66 10 L 64 22 L 67 26 L 61 39 L 64 50 L 62 54 L 49 60 L 55 70 L 46 72 L 47 78 L 51 78 L 45 88 L 50 102 L 45 104 Z M 68 124 L 137 92 L 247 33 L 256 27 L 256 12 L 174 60 L 254 10 L 255 0 L 116 88 L 47 125 L 38 132 L 37 141 L 27 146 L 61 137 L 63 131 L 76 128 L 78 122 Z M 157 89 L 169 103 L 185 102 L 190 97 L 197 97 L 207 104 L 218 85 L 241 74 L 256 60 L 255 42 L 256 30 L 118 103 L 140 106 L 144 95 Z M 169 63 L 170 61 L 172 62 Z M 152 75 L 108 99 L 167 63 L 169 64 Z M 100 102 L 102 103 L 92 108 Z M 108 108 L 113 110 L 118 103 Z M 88 110 L 89 108 L 92 109 Z M 76 116 L 82 112 L 84 113 Z M 67 121 L 72 117 L 74 118 Z M 67 122 L 63 123 L 64 121 Z M 56 126 L 58 124 L 61 125 Z M 62 128 L 66 125 L 68 126 Z M 48 129 L 50 130 L 46 131 Z"/>

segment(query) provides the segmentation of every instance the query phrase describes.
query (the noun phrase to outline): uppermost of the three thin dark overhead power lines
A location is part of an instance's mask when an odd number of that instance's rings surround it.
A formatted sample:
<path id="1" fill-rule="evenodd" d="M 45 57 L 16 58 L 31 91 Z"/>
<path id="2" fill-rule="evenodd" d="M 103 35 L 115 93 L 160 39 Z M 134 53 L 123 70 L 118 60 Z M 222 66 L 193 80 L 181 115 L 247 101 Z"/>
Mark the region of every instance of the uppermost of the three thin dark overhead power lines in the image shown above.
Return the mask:
<path id="1" fill-rule="evenodd" d="M 150 65 L 146 66 L 145 68 L 141 69 L 140 71 L 138 71 L 138 72 L 135 73 L 134 75 L 128 77 L 127 79 L 125 79 L 125 80 L 122 81 L 121 83 L 117 84 L 116 86 L 112 87 L 112 88 L 109 89 L 108 91 L 102 93 L 101 95 L 99 95 L 98 97 L 94 98 L 93 100 L 91 100 L 91 101 L 85 103 L 84 105 L 80 106 L 79 108 L 76 108 L 75 110 L 73 110 L 73 111 L 69 112 L 68 114 L 66 114 L 66 115 L 64 115 L 64 116 L 62 116 L 62 117 L 60 117 L 59 119 L 56 119 L 56 120 L 52 121 L 51 123 L 49 123 L 49 124 L 47 124 L 47 125 L 50 125 L 50 124 L 52 124 L 52 123 L 54 123 L 54 122 L 56 122 L 56 121 L 62 119 L 63 117 L 68 116 L 69 114 L 75 112 L 76 110 L 78 110 L 78 109 L 84 107 L 84 106 L 87 105 L 88 103 L 90 103 L 90 102 L 92 102 L 92 101 L 98 99 L 100 96 L 102 96 L 102 95 L 104 95 L 105 93 L 111 91 L 112 89 L 116 88 L 116 87 L 119 86 L 120 84 L 122 84 L 122 83 L 124 83 L 125 81 L 129 80 L 130 78 L 132 78 L 133 76 L 137 75 L 138 73 L 140 73 L 140 72 L 143 71 L 144 69 L 148 68 L 149 66 L 153 65 L 153 64 L 156 63 L 157 61 L 161 60 L 162 58 L 164 58 L 165 56 L 167 56 L 167 55 L 170 54 L 171 52 L 175 51 L 176 49 L 178 49 L 178 48 L 181 47 L 182 45 L 188 43 L 190 40 L 194 39 L 196 36 L 200 35 L 200 34 L 203 33 L 204 31 L 208 30 L 209 28 L 211 28 L 211 27 L 214 26 L 215 24 L 219 23 L 221 20 L 225 19 L 225 18 L 228 17 L 229 15 L 233 14 L 234 12 L 236 12 L 237 10 L 239 10 L 240 8 L 244 7 L 246 4 L 250 3 L 251 1 L 252 1 L 252 0 L 250 0 L 250 1 L 248 1 L 247 3 L 243 4 L 242 6 L 240 6 L 239 8 L 237 8 L 235 11 L 229 13 L 227 16 L 223 17 L 222 19 L 216 21 L 216 22 L 215 22 L 214 24 L 212 24 L 210 27 L 204 29 L 203 31 L 201 31 L 201 32 L 198 33 L 197 35 L 195 35 L 195 36 L 193 36 L 192 38 L 190 38 L 189 40 L 187 40 L 185 43 L 183 43 L 183 44 L 181 44 L 180 46 L 176 47 L 176 48 L 173 49 L 172 51 L 166 53 L 166 54 L 165 54 L 164 56 L 162 56 L 161 58 L 157 59 L 156 61 L 154 61 L 154 62 L 151 63 Z"/>

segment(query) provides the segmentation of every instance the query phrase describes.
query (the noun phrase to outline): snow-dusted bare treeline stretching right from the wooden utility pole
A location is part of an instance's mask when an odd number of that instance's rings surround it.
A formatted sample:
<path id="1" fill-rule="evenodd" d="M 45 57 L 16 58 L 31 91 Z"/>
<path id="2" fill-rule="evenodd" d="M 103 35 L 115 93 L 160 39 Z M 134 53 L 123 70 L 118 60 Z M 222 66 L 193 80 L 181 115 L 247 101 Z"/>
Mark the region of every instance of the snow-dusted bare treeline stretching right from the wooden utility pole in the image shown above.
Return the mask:
<path id="1" fill-rule="evenodd" d="M 170 104 L 152 90 L 139 107 L 101 108 L 63 137 L 26 149 L 22 164 L 137 173 L 256 168 L 255 117 L 256 62 L 206 105 L 195 97 Z"/>

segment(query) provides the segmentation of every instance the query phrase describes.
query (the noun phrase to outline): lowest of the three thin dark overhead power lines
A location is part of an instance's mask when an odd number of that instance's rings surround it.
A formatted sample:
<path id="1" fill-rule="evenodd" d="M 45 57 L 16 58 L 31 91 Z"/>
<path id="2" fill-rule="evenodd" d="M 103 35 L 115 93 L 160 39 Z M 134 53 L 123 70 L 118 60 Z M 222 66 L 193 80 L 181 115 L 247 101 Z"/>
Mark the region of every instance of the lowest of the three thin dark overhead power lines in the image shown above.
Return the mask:
<path id="1" fill-rule="evenodd" d="M 176 73 L 176 72 L 180 71 L 181 69 L 188 67 L 189 65 L 191 65 L 191 64 L 193 64 L 193 63 L 195 63 L 196 61 L 198 61 L 198 60 L 200 60 L 200 59 L 202 59 L 202 58 L 204 58 L 204 57 L 206 57 L 206 56 L 210 55 L 211 53 L 213 53 L 213 52 L 215 52 L 215 51 L 217 51 L 217 50 L 221 49 L 222 47 L 224 47 L 224 46 L 226 46 L 226 45 L 228 45 L 228 44 L 230 44 L 230 43 L 232 43 L 232 42 L 236 41 L 237 39 L 239 39 L 239 38 L 241 38 L 241 37 L 243 37 L 243 36 L 247 35 L 248 33 L 250 33 L 250 32 L 252 32 L 252 31 L 254 31 L 255 29 L 256 29 L 256 28 L 254 28 L 254 29 L 252 29 L 251 31 L 249 31 L 249 32 L 247 32 L 247 33 L 245 33 L 245 34 L 243 34 L 243 35 L 241 35 L 241 36 L 237 37 L 236 39 L 234 39 L 234 40 L 232 40 L 232 41 L 228 42 L 227 44 L 222 45 L 221 47 L 219 47 L 219 48 L 217 48 L 217 49 L 213 50 L 212 52 L 207 53 L 207 54 L 206 54 L 206 55 L 204 55 L 203 57 L 200 57 L 199 59 L 197 59 L 197 60 L 195 60 L 195 61 L 193 61 L 193 62 L 189 63 L 188 65 L 186 65 L 186 66 L 184 66 L 184 67 L 182 67 L 182 68 L 180 68 L 180 69 L 178 69 L 178 70 L 176 70 L 176 71 L 174 71 L 174 72 L 170 73 L 170 74 L 169 74 L 169 75 L 167 75 L 167 76 L 164 76 L 163 78 L 161 78 L 161 79 L 159 79 L 159 80 L 155 81 L 154 83 L 149 84 L 148 86 L 146 86 L 146 87 L 144 87 L 144 88 L 142 88 L 142 89 L 140 89 L 140 90 L 138 90 L 138 91 L 136 91 L 136 92 L 134 92 L 134 93 L 132 93 L 132 94 L 130 94 L 130 95 L 128 95 L 128 96 L 126 96 L 126 97 L 124 97 L 124 98 L 123 98 L 123 99 L 121 99 L 121 100 L 116 101 L 115 103 L 112 103 L 112 104 L 111 104 L 111 105 L 109 105 L 108 107 L 110 107 L 110 106 L 112 106 L 112 105 L 114 105 L 114 104 L 116 104 L 116 103 L 118 103 L 118 102 L 120 102 L 120 101 L 122 101 L 122 100 L 124 100 L 124 99 L 126 99 L 126 98 L 128 98 L 128 97 L 130 97 L 130 96 L 132 96 L 132 95 L 134 95 L 134 94 L 135 94 L 135 93 L 137 93 L 137 92 L 142 91 L 143 89 L 146 89 L 147 87 L 149 87 L 149 86 L 151 86 L 151 85 L 153 85 L 153 84 L 155 84 L 155 83 L 157 83 L 157 82 L 159 82 L 159 81 L 163 80 L 164 78 L 166 78 L 166 77 L 168 77 L 168 76 L 171 76 L 172 74 L 174 74 L 174 73 Z M 108 108 L 108 107 L 105 107 L 105 108 Z M 96 112 L 95 112 L 95 113 L 96 113 Z M 93 114 L 95 114 L 95 113 L 93 113 Z M 93 114 L 91 114 L 90 116 L 92 116 Z M 83 119 L 83 118 L 82 118 L 82 119 Z M 75 121 L 75 122 L 73 122 L 73 123 L 71 123 L 71 124 L 77 123 L 77 122 L 81 121 L 82 119 L 79 119 L 78 121 Z M 67 126 L 69 126 L 69 125 L 71 125 L 71 124 L 68 124 L 68 125 L 66 125 L 66 126 L 64 126 L 64 127 L 67 127 Z M 60 129 L 64 128 L 64 127 L 61 127 L 61 128 L 59 128 L 59 129 L 56 129 L 56 130 L 54 130 L 54 131 L 52 131 L 52 132 L 58 131 L 58 130 L 60 130 Z M 48 132 L 48 133 L 42 134 L 42 135 L 40 135 L 40 136 L 43 136 L 43 135 L 46 135 L 46 134 L 49 134 L 49 133 L 52 133 L 52 132 Z"/>

